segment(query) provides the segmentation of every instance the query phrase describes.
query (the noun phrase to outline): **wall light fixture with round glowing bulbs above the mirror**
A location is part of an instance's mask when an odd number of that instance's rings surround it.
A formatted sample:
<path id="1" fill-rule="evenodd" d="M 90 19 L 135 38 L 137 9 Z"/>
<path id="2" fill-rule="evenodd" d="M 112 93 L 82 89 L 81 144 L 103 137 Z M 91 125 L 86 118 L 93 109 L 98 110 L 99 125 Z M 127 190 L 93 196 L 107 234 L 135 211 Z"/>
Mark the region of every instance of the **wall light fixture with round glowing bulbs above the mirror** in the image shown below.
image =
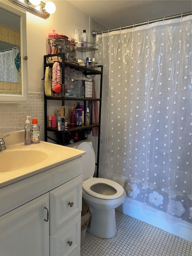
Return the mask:
<path id="1" fill-rule="evenodd" d="M 55 4 L 53 2 L 41 2 L 41 0 L 9 0 L 15 5 L 18 5 L 26 11 L 35 14 L 43 19 L 47 19 L 50 14 L 53 14 L 56 10 Z"/>

